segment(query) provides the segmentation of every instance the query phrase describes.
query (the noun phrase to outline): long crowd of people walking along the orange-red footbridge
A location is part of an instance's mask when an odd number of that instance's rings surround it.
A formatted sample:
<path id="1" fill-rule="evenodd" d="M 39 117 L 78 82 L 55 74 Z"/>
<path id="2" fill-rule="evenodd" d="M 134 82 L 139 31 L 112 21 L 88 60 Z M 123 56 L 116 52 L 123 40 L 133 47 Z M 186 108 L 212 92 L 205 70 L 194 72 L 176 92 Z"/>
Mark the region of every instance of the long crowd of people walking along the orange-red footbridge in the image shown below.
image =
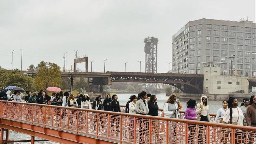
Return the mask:
<path id="1" fill-rule="evenodd" d="M 102 102 L 103 97 L 98 95 L 91 106 L 90 98 L 87 93 L 84 95 L 81 93 L 74 94 L 70 93 L 70 91 L 66 92 L 53 92 L 52 96 L 48 96 L 46 91 L 40 90 L 39 92 L 31 92 L 26 91 L 26 96 L 24 101 L 29 103 L 39 103 L 39 104 L 51 104 L 57 106 L 69 106 L 69 107 L 79 107 L 82 109 L 94 109 L 94 110 L 104 110 L 104 111 L 112 111 L 112 112 L 121 112 L 120 105 L 117 95 L 106 96 L 106 99 Z M 23 93 L 20 91 L 12 91 L 8 90 L 0 92 L 0 100 L 8 100 L 8 101 L 17 101 L 22 102 Z M 200 103 L 196 103 L 196 100 L 190 99 L 187 102 L 187 108 L 185 111 L 185 118 L 189 120 L 200 120 L 200 121 L 208 121 L 210 122 L 210 106 L 208 104 L 208 97 L 202 96 Z M 240 107 L 238 107 L 238 100 L 236 98 L 230 97 L 228 100 L 224 100 L 222 102 L 223 107 L 221 107 L 216 114 L 214 119 L 214 123 L 225 123 L 232 125 L 240 125 L 240 126 L 256 126 L 256 96 L 252 96 L 249 98 L 244 98 Z M 157 96 L 151 95 L 150 93 L 146 93 L 142 91 L 138 94 L 138 96 L 132 95 L 130 96 L 129 101 L 126 104 L 126 113 L 130 114 L 140 114 L 140 115 L 150 115 L 150 116 L 158 116 L 158 104 L 157 104 Z M 182 109 L 182 105 L 179 99 L 176 98 L 176 93 L 172 93 L 168 100 L 163 105 L 163 114 L 165 117 L 170 118 L 179 118 L 180 113 L 179 110 Z M 218 121 L 219 117 L 221 117 L 220 121 Z M 104 119 L 102 115 L 95 115 L 94 118 L 94 129 L 96 129 L 95 123 L 99 119 L 101 128 L 103 133 L 106 131 L 103 128 Z M 105 119 L 108 119 L 106 116 Z M 111 132 L 119 133 L 119 125 L 120 125 L 120 116 L 119 115 L 111 115 Z M 134 117 L 129 117 L 129 135 L 131 139 L 133 139 L 134 133 Z M 149 121 L 146 118 L 138 118 L 137 123 L 140 126 L 139 130 L 139 139 L 141 143 L 144 143 L 148 140 L 148 130 L 149 130 Z M 157 140 L 161 141 L 162 138 L 158 132 L 158 120 L 152 120 L 152 128 L 156 134 Z M 193 135 L 195 134 L 196 125 L 190 124 L 188 141 L 189 143 L 193 143 Z M 169 124 L 169 141 L 176 141 L 176 122 L 171 121 Z M 203 125 L 199 125 L 198 132 L 198 140 L 203 141 Z M 228 129 L 223 129 L 223 131 L 228 131 Z M 237 134 L 237 133 L 236 133 Z M 227 134 L 222 134 L 221 142 L 226 141 Z"/>

